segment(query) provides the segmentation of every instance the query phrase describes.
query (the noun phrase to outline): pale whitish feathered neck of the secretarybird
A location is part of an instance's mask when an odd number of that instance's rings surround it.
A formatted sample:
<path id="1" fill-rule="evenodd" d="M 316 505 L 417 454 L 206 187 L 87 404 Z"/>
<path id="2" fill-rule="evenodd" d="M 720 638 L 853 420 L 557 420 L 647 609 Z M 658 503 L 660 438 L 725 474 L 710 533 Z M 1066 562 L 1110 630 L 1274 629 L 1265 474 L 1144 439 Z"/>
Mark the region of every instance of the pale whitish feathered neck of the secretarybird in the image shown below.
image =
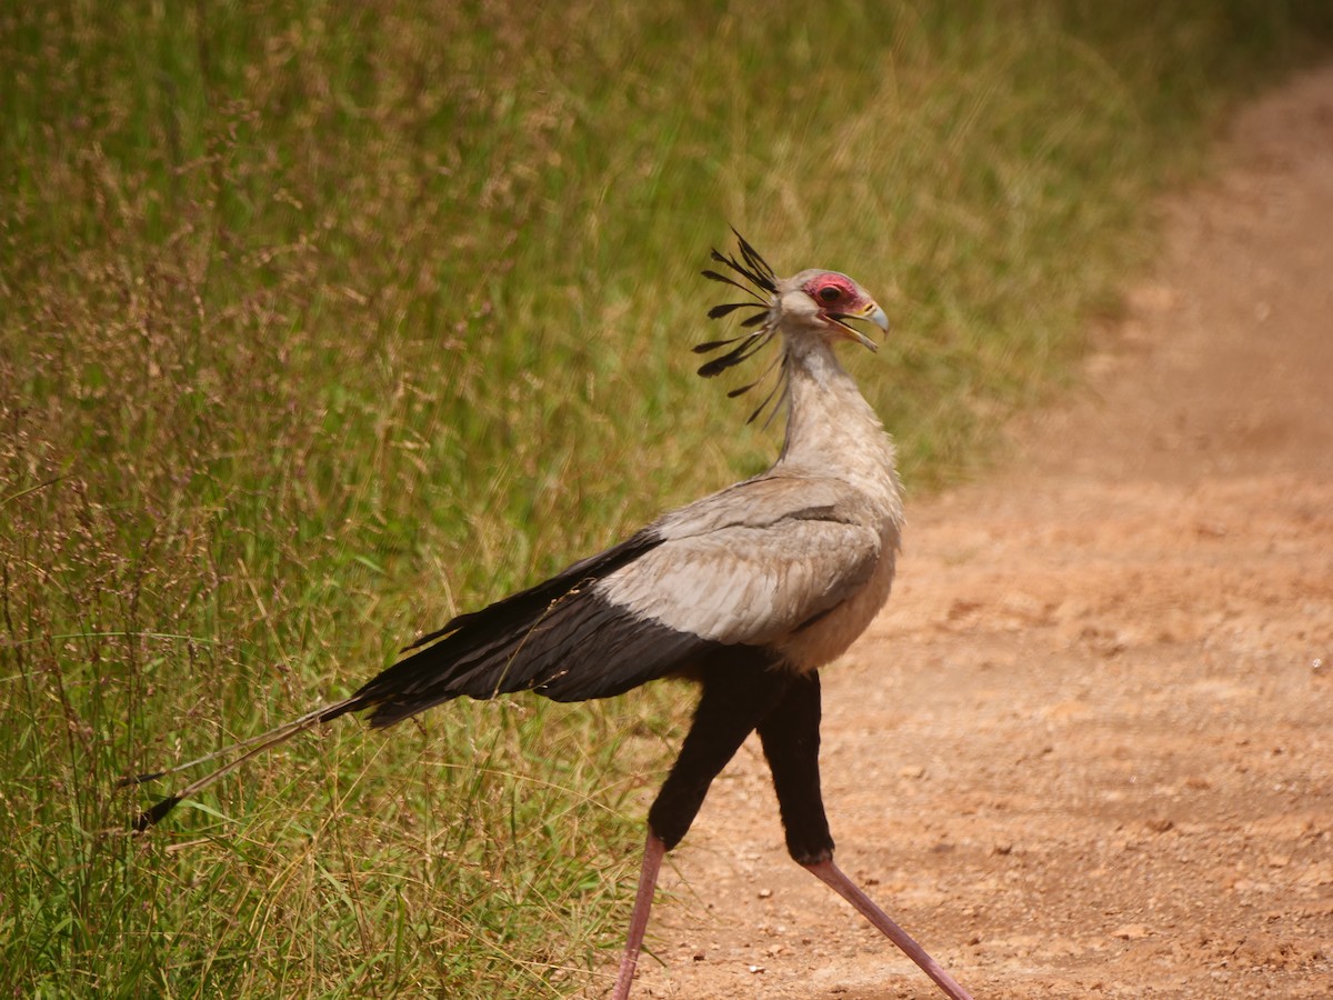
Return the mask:
<path id="1" fill-rule="evenodd" d="M 784 349 L 790 395 L 777 467 L 844 479 L 896 501 L 893 441 L 832 347 L 820 340 Z"/>

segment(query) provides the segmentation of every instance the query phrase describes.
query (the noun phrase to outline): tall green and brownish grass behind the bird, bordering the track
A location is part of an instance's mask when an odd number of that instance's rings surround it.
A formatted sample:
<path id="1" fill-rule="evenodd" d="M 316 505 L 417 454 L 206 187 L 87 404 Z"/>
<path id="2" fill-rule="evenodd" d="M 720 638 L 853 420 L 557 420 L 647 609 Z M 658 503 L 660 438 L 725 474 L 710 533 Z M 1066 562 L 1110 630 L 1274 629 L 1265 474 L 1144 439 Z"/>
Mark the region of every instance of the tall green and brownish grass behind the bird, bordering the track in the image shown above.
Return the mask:
<path id="1" fill-rule="evenodd" d="M 0 992 L 589 988 L 684 689 L 335 727 L 148 837 L 116 779 L 762 468 L 688 352 L 728 223 L 878 296 L 913 495 L 968 475 L 1324 11 L 7 5 Z"/>

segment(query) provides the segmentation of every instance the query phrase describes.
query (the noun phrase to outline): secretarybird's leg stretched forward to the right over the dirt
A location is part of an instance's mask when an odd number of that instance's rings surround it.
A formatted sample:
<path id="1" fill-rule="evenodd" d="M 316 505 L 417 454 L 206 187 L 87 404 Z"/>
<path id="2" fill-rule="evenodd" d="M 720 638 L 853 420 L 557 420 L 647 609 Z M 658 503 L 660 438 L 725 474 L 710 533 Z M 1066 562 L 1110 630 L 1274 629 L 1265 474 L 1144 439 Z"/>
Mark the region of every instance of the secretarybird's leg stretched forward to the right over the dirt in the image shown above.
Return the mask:
<path id="1" fill-rule="evenodd" d="M 820 793 L 820 679 L 798 676 L 773 711 L 758 724 L 764 756 L 773 772 L 792 857 L 824 881 L 876 929 L 896 944 L 950 1000 L 972 1000 L 926 951 L 898 927 L 865 892 L 833 864 L 833 837 Z"/>

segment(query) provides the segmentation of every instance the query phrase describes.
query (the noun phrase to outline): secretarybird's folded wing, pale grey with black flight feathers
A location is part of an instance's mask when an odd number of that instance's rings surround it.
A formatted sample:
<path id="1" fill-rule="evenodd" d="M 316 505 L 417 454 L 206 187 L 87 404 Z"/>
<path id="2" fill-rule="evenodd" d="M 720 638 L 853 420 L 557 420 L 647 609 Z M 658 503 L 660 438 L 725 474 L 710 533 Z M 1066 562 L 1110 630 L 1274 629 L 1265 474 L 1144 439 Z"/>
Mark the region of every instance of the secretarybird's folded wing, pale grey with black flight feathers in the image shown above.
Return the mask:
<path id="1" fill-rule="evenodd" d="M 836 483 L 772 477 L 714 493 L 424 636 L 339 715 L 372 708 L 384 727 L 463 695 L 609 697 L 773 643 L 873 571 L 880 537 L 848 497 Z"/>

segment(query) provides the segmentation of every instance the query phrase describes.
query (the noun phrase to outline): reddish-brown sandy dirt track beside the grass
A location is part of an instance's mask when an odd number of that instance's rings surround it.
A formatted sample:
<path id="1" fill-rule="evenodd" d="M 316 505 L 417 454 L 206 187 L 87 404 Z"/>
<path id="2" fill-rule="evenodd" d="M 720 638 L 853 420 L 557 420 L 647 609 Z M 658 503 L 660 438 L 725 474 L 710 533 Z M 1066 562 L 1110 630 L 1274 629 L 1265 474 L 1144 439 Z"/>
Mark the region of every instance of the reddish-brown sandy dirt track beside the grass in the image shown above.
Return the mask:
<path id="1" fill-rule="evenodd" d="M 1333 996 L 1333 68 L 1222 156 L 825 673 L 838 861 L 978 1000 Z M 786 859 L 757 745 L 672 860 L 637 997 L 937 996 Z"/>

